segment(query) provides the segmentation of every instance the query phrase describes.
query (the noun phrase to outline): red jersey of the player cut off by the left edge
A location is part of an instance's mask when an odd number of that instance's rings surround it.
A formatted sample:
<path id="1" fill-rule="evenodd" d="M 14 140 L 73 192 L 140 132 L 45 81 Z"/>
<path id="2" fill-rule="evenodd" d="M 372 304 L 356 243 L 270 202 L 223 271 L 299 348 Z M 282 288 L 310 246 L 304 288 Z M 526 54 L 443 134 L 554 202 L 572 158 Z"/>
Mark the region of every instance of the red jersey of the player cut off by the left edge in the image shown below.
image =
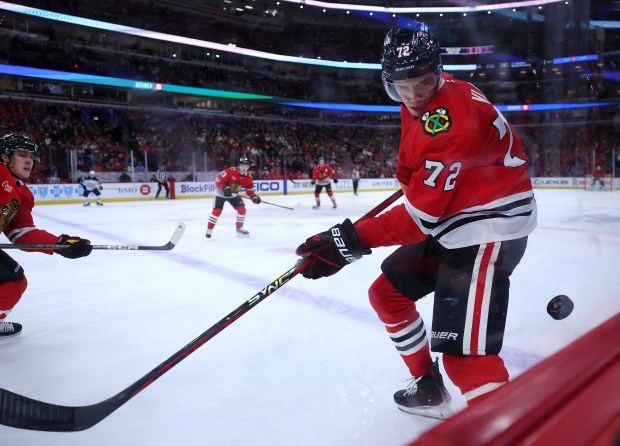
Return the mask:
<path id="1" fill-rule="evenodd" d="M 34 226 L 34 197 L 23 181 L 0 164 L 0 230 L 12 243 L 53 245 L 58 236 Z M 28 250 L 32 251 L 32 250 Z M 40 250 L 52 254 L 51 250 Z"/>

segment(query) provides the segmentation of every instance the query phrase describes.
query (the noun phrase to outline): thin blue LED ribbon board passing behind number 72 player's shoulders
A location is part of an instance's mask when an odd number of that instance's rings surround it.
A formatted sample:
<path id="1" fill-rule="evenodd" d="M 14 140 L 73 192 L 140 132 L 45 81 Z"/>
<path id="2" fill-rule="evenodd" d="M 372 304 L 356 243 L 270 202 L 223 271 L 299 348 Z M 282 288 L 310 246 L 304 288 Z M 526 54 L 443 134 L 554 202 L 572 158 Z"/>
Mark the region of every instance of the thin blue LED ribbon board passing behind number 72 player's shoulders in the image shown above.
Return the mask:
<path id="1" fill-rule="evenodd" d="M 354 111 L 369 113 L 400 113 L 400 105 L 363 105 L 363 104 L 335 104 L 328 102 L 275 102 L 280 105 L 291 107 L 314 108 L 330 111 Z M 504 113 L 525 112 L 525 111 L 545 111 L 545 110 L 566 110 L 575 108 L 593 108 L 618 105 L 615 102 L 594 102 L 589 104 L 517 104 L 517 105 L 497 105 L 496 108 Z"/>

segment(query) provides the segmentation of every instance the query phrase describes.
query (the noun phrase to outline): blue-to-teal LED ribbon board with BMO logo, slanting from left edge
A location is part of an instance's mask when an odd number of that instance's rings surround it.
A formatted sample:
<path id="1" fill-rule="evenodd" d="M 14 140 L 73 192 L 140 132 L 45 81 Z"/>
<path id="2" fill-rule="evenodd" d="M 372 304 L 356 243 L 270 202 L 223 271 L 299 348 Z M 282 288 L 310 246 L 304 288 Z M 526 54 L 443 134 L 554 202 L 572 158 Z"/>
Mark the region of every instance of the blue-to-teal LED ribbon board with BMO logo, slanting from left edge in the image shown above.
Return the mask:
<path id="1" fill-rule="evenodd" d="M 88 85 L 105 85 L 136 90 L 164 91 L 167 93 L 190 94 L 195 96 L 209 96 L 224 99 L 240 100 L 273 100 L 273 96 L 259 94 L 238 93 L 235 91 L 212 90 L 210 88 L 185 87 L 183 85 L 161 84 L 157 82 L 135 81 L 116 77 L 93 76 L 82 73 L 68 73 L 65 71 L 44 70 L 40 68 L 20 67 L 16 65 L 0 64 L 0 74 L 11 76 L 33 77 L 62 82 L 75 82 Z"/>

